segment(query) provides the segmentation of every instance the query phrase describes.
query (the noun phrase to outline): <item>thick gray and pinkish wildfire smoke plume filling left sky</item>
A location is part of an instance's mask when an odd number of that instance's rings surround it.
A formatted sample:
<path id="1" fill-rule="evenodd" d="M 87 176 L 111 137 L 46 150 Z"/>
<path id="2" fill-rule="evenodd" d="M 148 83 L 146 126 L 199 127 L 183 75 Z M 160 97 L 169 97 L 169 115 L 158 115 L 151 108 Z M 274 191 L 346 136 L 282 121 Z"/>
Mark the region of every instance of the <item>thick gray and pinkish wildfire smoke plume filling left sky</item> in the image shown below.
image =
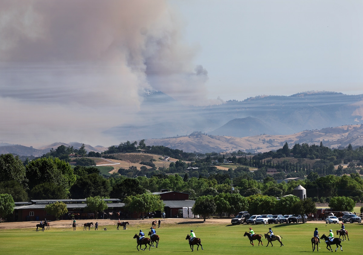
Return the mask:
<path id="1" fill-rule="evenodd" d="M 182 27 L 163 0 L 0 0 L 2 141 L 118 143 L 149 90 L 206 104 Z"/>

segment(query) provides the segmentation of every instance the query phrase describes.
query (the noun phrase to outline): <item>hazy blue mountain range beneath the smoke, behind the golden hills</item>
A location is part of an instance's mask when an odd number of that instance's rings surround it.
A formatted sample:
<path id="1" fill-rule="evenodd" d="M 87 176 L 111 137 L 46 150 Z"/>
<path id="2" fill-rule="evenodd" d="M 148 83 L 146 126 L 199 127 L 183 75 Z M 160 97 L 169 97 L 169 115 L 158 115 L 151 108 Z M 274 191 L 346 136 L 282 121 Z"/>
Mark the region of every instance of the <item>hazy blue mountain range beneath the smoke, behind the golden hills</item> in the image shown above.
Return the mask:
<path id="1" fill-rule="evenodd" d="M 104 133 L 115 141 L 174 137 L 196 130 L 233 137 L 294 134 L 362 124 L 363 95 L 313 91 L 291 96 L 256 96 L 220 105 L 184 106 L 163 93 L 152 92 L 147 94 L 133 120 Z"/>

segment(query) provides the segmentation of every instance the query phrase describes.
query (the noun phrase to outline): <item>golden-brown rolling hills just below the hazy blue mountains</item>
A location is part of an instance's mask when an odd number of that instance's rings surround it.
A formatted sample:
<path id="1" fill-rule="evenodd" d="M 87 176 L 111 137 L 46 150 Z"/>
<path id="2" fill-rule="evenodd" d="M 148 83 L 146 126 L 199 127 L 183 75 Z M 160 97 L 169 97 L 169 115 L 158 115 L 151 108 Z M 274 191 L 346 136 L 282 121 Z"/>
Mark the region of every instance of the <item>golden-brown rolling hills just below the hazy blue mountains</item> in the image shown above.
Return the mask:
<path id="1" fill-rule="evenodd" d="M 332 133 L 327 133 L 331 130 Z M 231 137 L 197 134 L 174 138 L 146 139 L 146 145 L 163 145 L 171 149 L 185 152 L 210 153 L 212 151 L 246 151 L 251 153 L 278 150 L 285 142 L 292 148 L 295 143 L 308 143 L 317 145 L 323 142 L 330 148 L 363 146 L 363 126 L 345 125 L 322 130 L 306 130 L 290 135 L 254 135 L 249 137 Z"/>

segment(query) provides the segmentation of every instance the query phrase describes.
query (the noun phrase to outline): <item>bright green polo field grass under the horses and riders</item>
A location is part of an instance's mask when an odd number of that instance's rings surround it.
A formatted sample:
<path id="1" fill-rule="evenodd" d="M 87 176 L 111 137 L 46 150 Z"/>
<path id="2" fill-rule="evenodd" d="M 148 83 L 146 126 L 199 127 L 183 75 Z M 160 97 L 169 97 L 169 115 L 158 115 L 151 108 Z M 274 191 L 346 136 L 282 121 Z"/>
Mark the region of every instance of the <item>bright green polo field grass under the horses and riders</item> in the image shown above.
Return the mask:
<path id="1" fill-rule="evenodd" d="M 208 220 L 207 220 L 208 221 Z M 225 224 L 204 224 L 202 222 L 191 222 L 183 224 L 167 224 L 162 221 L 162 228 L 157 228 L 156 232 L 160 236 L 159 248 L 152 248 L 154 254 L 178 254 L 180 252 L 191 252 L 185 236 L 191 229 L 196 236 L 201 238 L 204 251 L 199 248 L 197 253 L 203 254 L 258 254 L 270 255 L 272 252 L 281 254 L 302 254 L 302 252 L 312 252 L 310 239 L 313 236 L 314 228 L 319 228 L 320 235 L 328 234 L 329 228 L 333 231 L 339 229 L 338 224 L 269 224 L 269 225 L 225 225 Z M 256 234 L 263 234 L 272 227 L 276 235 L 283 237 L 280 243 L 273 242 L 274 246 L 265 247 L 267 240 L 263 238 L 264 246 L 255 246 L 249 243 L 248 238 L 244 237 L 245 231 L 252 226 Z M 363 250 L 361 240 L 362 224 L 346 224 L 349 232 L 350 241 L 342 242 L 343 251 L 349 255 L 360 255 Z M 103 228 L 106 227 L 107 231 Z M 150 224 L 127 225 L 127 230 L 116 230 L 116 226 L 102 226 L 99 222 L 99 230 L 83 231 L 83 227 L 77 227 L 73 231 L 69 228 L 50 228 L 45 232 L 36 232 L 35 227 L 14 230 L 0 230 L 1 254 L 126 254 L 138 252 L 136 240 L 133 236 L 143 229 L 148 231 Z M 335 234 L 335 232 L 334 232 Z M 335 250 L 336 246 L 332 246 Z M 326 245 L 322 243 L 321 252 L 329 252 Z M 143 251 L 139 251 L 143 252 Z M 149 252 L 149 251 L 145 251 Z M 337 252 L 341 252 L 340 248 Z"/>

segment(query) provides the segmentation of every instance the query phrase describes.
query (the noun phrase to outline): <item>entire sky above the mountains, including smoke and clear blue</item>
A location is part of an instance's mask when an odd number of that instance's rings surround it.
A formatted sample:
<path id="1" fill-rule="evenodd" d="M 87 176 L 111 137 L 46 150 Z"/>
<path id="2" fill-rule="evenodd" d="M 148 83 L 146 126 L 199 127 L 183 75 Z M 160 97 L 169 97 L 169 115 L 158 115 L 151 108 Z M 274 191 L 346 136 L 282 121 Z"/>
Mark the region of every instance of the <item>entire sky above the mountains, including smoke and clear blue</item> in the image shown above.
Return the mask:
<path id="1" fill-rule="evenodd" d="M 118 144 L 143 95 L 363 94 L 360 0 L 0 0 L 0 143 Z"/>

